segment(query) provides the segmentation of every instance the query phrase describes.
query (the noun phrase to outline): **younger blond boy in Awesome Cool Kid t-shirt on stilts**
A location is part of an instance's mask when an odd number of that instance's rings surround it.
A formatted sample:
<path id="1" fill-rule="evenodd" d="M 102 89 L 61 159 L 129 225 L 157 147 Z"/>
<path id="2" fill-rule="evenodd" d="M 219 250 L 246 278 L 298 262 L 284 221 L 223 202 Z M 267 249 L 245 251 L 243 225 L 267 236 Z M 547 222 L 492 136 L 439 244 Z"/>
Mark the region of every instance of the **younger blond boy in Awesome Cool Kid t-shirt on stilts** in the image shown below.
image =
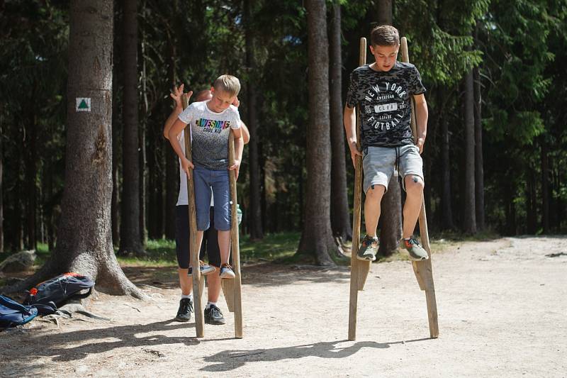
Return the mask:
<path id="1" fill-rule="evenodd" d="M 181 160 L 181 167 L 189 177 L 193 169 L 197 216 L 197 250 L 201 248 L 203 231 L 210 226 L 210 189 L 215 199 L 215 228 L 218 230 L 220 248 L 220 278 L 235 277 L 228 264 L 230 255 L 230 183 L 228 169 L 235 170 L 236 177 L 242 160 L 242 131 L 240 114 L 232 103 L 240 92 L 240 81 L 230 75 L 222 75 L 210 89 L 213 98 L 194 102 L 185 109 L 169 130 L 169 142 Z M 184 155 L 179 134 L 191 125 L 193 162 Z M 228 166 L 228 136 L 232 129 L 235 137 L 235 163 Z"/>

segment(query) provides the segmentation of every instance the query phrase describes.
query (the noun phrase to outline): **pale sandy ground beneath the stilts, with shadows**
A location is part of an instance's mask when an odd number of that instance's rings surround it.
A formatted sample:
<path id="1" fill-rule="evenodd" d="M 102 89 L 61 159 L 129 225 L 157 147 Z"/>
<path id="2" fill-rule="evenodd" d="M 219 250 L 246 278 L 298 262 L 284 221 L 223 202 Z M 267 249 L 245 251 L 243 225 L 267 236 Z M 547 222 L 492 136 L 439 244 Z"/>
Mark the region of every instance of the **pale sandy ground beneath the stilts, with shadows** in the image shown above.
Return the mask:
<path id="1" fill-rule="evenodd" d="M 410 262 L 374 264 L 348 341 L 349 270 L 243 269 L 244 338 L 172 321 L 175 275 L 127 269 L 152 301 L 97 294 L 59 327 L 0 333 L 2 377 L 566 377 L 567 238 L 503 238 L 433 255 L 439 338 Z M 159 276 L 161 274 L 161 276 Z M 150 277 L 150 278 L 148 278 Z M 151 277 L 162 277 L 156 280 Z M 159 288 L 157 288 L 159 287 Z"/>

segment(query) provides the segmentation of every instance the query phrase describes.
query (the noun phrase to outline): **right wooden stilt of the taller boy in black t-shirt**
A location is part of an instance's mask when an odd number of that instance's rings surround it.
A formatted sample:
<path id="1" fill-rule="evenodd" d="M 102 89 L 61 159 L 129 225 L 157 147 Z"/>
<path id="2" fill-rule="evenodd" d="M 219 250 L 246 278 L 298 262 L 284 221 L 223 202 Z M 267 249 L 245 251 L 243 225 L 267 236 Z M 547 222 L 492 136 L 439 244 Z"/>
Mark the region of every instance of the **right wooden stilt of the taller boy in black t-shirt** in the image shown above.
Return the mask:
<path id="1" fill-rule="evenodd" d="M 408 40 L 405 37 L 400 39 L 400 48 L 402 52 L 402 62 L 410 62 L 410 56 L 408 53 Z M 412 121 L 411 128 L 413 133 L 414 142 L 417 138 L 417 128 L 415 122 L 415 109 L 412 102 Z M 430 255 L 429 260 L 425 261 L 414 261 L 413 272 L 415 273 L 415 278 L 417 283 L 420 285 L 420 289 L 425 291 L 425 300 L 427 302 L 427 317 L 430 324 L 430 336 L 432 338 L 439 337 L 439 325 L 437 322 L 437 299 L 435 298 L 435 287 L 433 284 L 433 270 L 431 265 L 431 247 L 430 247 L 430 236 L 427 230 L 427 216 L 425 215 L 425 199 L 422 196 L 421 210 L 420 210 L 420 235 L 421 243 L 423 248 Z"/>

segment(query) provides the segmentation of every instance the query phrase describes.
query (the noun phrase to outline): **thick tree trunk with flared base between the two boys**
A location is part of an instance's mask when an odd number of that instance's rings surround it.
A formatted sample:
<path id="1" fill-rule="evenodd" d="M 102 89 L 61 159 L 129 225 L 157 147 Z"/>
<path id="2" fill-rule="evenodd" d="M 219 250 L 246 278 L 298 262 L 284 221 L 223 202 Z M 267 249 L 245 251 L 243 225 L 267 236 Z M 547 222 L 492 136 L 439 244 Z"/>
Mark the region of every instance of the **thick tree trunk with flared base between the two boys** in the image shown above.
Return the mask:
<path id="1" fill-rule="evenodd" d="M 298 253 L 311 254 L 319 265 L 334 265 L 328 184 L 331 174 L 329 120 L 329 45 L 325 0 L 306 0 L 308 31 L 309 122 L 307 129 L 307 188 L 305 227 Z"/>

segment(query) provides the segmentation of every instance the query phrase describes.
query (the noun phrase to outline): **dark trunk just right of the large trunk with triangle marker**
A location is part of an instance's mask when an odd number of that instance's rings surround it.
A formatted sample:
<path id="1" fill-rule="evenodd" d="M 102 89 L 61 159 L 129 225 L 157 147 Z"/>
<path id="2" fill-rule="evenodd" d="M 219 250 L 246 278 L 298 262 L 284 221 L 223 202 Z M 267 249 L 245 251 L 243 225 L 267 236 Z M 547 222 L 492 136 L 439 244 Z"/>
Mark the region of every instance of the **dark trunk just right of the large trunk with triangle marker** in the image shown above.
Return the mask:
<path id="1" fill-rule="evenodd" d="M 140 155 L 138 153 L 137 0 L 124 2 L 123 16 L 122 219 L 120 255 L 144 255 L 140 233 Z"/>

